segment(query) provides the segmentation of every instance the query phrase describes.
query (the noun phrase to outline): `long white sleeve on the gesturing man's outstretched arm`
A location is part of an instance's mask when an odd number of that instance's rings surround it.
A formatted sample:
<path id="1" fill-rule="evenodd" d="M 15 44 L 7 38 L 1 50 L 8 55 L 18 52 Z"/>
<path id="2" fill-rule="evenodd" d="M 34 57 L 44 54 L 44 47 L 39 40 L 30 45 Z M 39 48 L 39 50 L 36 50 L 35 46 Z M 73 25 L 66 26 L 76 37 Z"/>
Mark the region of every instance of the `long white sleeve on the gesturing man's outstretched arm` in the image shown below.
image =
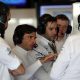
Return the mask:
<path id="1" fill-rule="evenodd" d="M 36 73 L 36 71 L 42 66 L 41 62 L 39 60 L 37 60 L 34 64 L 32 64 L 31 66 L 29 66 L 26 69 L 26 73 L 24 75 L 20 75 L 19 77 L 17 77 L 18 79 L 20 78 L 26 78 L 26 80 L 29 80 L 32 78 L 32 76 Z"/>

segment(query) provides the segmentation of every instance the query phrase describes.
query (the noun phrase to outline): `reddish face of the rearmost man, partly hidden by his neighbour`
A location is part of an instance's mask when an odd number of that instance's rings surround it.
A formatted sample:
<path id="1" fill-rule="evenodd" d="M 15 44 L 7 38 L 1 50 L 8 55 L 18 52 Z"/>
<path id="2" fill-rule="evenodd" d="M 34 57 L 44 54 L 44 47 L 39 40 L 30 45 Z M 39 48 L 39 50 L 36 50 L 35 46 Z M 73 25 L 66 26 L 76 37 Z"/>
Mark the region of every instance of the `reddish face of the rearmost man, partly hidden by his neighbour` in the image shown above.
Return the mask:
<path id="1" fill-rule="evenodd" d="M 57 19 L 57 26 L 59 27 L 58 37 L 64 37 L 69 22 L 67 20 Z"/>

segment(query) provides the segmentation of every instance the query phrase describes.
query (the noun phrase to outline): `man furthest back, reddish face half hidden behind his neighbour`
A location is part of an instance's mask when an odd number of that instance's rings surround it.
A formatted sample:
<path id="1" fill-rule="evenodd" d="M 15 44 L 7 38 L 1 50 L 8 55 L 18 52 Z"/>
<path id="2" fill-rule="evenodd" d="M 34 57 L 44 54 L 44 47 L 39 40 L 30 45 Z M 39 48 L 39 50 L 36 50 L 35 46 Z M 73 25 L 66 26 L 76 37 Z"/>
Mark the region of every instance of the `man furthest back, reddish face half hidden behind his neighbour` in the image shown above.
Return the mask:
<path id="1" fill-rule="evenodd" d="M 59 14 L 56 16 L 57 26 L 58 26 L 58 33 L 57 33 L 57 40 L 55 41 L 56 48 L 58 53 L 62 49 L 62 46 L 71 33 L 72 27 L 70 25 L 69 18 L 64 14 Z"/>

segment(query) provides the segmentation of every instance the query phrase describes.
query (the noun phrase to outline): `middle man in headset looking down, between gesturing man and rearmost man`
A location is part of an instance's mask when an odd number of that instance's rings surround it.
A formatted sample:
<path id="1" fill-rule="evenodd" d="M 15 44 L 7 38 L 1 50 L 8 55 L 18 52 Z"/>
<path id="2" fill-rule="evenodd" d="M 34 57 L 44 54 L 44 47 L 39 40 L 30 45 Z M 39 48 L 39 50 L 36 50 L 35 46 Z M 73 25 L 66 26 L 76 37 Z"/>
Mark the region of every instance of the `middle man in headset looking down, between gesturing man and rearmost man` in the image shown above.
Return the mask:
<path id="1" fill-rule="evenodd" d="M 38 54 L 43 54 L 36 56 L 37 59 L 39 58 L 39 56 L 43 57 L 44 55 L 50 57 L 50 60 L 43 64 L 43 69 L 40 68 L 38 70 L 37 76 L 39 80 L 50 80 L 49 72 L 55 58 L 57 57 L 57 51 L 54 41 L 57 33 L 56 28 L 56 19 L 50 14 L 43 14 L 39 18 L 37 27 L 37 47 L 34 48 L 34 51 L 38 52 Z M 39 46 L 43 47 L 46 51 L 40 49 Z"/>

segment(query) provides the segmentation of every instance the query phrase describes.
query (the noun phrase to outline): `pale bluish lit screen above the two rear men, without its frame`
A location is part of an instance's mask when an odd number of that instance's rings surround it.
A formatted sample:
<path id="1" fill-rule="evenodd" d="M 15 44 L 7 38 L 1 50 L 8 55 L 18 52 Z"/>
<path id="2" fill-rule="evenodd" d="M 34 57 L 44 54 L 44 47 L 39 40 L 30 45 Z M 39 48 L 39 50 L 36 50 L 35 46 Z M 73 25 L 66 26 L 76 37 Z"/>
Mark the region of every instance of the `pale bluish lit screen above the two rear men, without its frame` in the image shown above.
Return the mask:
<path id="1" fill-rule="evenodd" d="M 57 14 L 71 13 L 71 5 L 41 5 L 40 6 L 40 16 L 44 13 L 49 13 L 53 16 Z"/>

